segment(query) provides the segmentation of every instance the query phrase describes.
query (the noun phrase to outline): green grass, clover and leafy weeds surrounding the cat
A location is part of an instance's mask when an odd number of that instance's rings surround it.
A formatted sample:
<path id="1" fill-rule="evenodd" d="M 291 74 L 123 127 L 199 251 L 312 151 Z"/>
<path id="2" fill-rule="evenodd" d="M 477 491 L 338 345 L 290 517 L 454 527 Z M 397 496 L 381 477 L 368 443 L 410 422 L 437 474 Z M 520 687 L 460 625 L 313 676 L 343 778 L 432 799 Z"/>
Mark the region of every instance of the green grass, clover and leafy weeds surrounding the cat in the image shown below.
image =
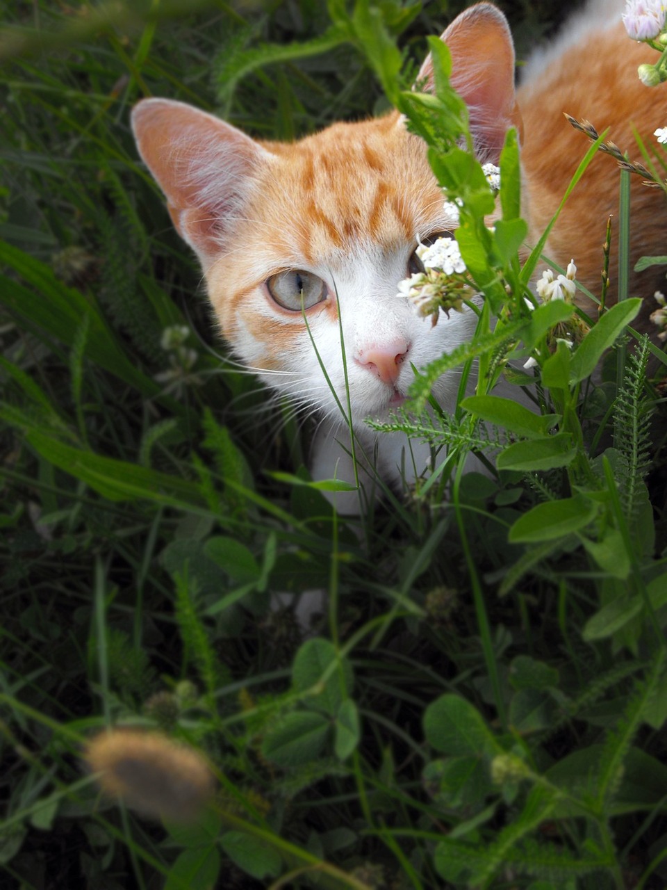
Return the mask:
<path id="1" fill-rule="evenodd" d="M 547 28 L 517 5 L 533 37 Z M 437 40 L 437 98 L 409 89 L 422 36 L 456 11 L 10 8 L 3 888 L 667 880 L 664 357 L 632 335 L 635 295 L 595 323 L 538 305 L 544 239 L 519 259 L 513 133 L 502 218 L 484 225 L 494 195 L 457 145 L 466 115 Z M 133 148 L 128 110 L 146 94 L 281 139 L 394 104 L 462 198 L 478 331 L 419 369 L 395 425 L 432 442 L 434 470 L 386 492 L 364 546 L 309 482 L 308 426 L 214 336 Z M 571 188 L 604 138 L 583 144 Z M 619 231 L 627 213 L 622 200 Z M 591 329 L 571 351 L 557 325 Z M 473 362 L 454 417 L 424 413 L 432 380 Z M 534 411 L 494 396 L 501 374 Z M 470 449 L 493 475 L 462 474 Z M 304 640 L 277 595 L 321 588 L 327 615 Z"/>

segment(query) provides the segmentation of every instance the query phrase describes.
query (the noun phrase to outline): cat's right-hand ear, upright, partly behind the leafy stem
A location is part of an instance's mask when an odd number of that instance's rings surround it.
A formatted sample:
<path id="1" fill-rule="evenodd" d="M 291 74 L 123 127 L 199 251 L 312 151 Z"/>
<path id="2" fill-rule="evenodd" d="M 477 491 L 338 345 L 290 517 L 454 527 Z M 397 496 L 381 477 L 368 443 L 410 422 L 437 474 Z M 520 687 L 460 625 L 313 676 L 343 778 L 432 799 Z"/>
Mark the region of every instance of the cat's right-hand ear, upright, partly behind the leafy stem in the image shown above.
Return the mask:
<path id="1" fill-rule="evenodd" d="M 521 115 L 514 93 L 514 44 L 502 12 L 480 3 L 457 16 L 440 38 L 452 54 L 451 83 L 470 112 L 475 151 L 498 163 L 510 126 L 521 136 Z M 417 84 L 433 85 L 433 63 L 424 61 Z M 423 88 L 423 87 L 422 87 Z"/>

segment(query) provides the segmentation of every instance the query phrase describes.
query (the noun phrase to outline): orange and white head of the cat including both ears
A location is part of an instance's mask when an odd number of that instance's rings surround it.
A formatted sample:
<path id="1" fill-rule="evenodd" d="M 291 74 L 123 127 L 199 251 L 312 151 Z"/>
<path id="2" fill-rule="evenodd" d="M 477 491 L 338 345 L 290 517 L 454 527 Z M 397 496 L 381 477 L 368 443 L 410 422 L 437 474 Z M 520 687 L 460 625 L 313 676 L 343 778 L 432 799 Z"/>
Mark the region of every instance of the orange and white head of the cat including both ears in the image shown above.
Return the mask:
<path id="1" fill-rule="evenodd" d="M 442 39 L 476 150 L 496 161 L 517 121 L 507 22 L 478 4 Z M 430 79 L 427 59 L 418 82 Z M 334 124 L 300 142 L 255 142 L 189 105 L 148 99 L 133 110 L 133 130 L 174 225 L 197 252 L 222 334 L 280 392 L 336 417 L 329 384 L 345 404 L 347 376 L 353 419 L 387 417 L 412 365 L 470 337 L 473 312 L 431 327 L 397 295 L 418 243 L 454 225 L 423 142 L 398 114 Z M 444 406 L 456 387 L 455 377 L 439 381 Z"/>

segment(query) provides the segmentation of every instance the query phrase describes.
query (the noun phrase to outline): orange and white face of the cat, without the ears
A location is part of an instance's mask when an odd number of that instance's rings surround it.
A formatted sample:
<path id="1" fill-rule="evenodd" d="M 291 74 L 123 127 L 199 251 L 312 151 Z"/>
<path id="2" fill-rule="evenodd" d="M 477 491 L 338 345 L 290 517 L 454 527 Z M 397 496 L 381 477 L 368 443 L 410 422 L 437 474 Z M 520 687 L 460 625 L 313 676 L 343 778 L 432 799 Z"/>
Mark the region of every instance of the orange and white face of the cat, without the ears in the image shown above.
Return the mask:
<path id="1" fill-rule="evenodd" d="M 460 344 L 475 323 L 454 312 L 432 327 L 398 296 L 419 241 L 454 222 L 423 143 L 396 116 L 335 125 L 269 147 L 254 174 L 243 217 L 206 273 L 223 336 L 297 402 L 341 417 L 347 368 L 353 419 L 387 417 L 411 366 Z M 453 385 L 443 379 L 438 395 Z"/>

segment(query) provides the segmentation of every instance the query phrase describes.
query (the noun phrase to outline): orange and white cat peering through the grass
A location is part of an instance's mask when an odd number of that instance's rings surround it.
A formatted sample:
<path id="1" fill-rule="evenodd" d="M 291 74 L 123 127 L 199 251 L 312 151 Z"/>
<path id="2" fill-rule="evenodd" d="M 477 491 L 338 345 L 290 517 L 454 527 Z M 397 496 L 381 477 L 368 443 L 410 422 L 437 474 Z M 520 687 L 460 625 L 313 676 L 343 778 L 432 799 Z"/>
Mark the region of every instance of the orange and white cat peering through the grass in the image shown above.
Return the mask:
<path id="1" fill-rule="evenodd" d="M 620 0 L 591 4 L 542 61 L 536 57 L 528 66 L 518 93 L 510 30 L 494 5 L 471 6 L 442 36 L 479 158 L 497 161 L 510 126 L 523 134 L 529 244 L 542 234 L 588 148 L 564 111 L 600 130 L 612 125 L 610 138 L 622 148 L 634 144 L 632 124 L 646 134 L 667 123 L 655 120 L 655 95 L 637 79 L 637 65 L 650 51 L 625 34 L 622 9 Z M 419 80 L 429 76 L 427 59 Z M 354 479 L 339 404 L 346 406 L 347 376 L 366 466 L 375 461 L 390 482 L 414 480 L 427 446 L 408 443 L 402 433 L 376 436 L 364 421 L 387 419 L 406 397 L 411 366 L 423 368 L 451 351 L 476 324 L 473 312 L 453 312 L 432 327 L 397 296 L 398 281 L 414 269 L 415 247 L 454 227 L 422 141 L 393 113 L 335 124 L 299 142 L 256 142 L 165 99 L 141 101 L 133 130 L 174 225 L 197 253 L 223 336 L 267 384 L 320 412 L 314 476 Z M 613 160 L 595 158 L 546 249 L 562 266 L 574 256 L 580 279 L 594 291 L 617 179 Z M 642 191 L 640 183 L 634 191 L 641 204 L 637 255 L 662 239 L 664 198 L 655 191 Z M 651 202 L 655 210 L 647 210 Z M 436 384 L 444 409 L 454 405 L 458 384 L 456 374 Z M 358 512 L 358 498 L 339 497 L 337 506 Z"/>

